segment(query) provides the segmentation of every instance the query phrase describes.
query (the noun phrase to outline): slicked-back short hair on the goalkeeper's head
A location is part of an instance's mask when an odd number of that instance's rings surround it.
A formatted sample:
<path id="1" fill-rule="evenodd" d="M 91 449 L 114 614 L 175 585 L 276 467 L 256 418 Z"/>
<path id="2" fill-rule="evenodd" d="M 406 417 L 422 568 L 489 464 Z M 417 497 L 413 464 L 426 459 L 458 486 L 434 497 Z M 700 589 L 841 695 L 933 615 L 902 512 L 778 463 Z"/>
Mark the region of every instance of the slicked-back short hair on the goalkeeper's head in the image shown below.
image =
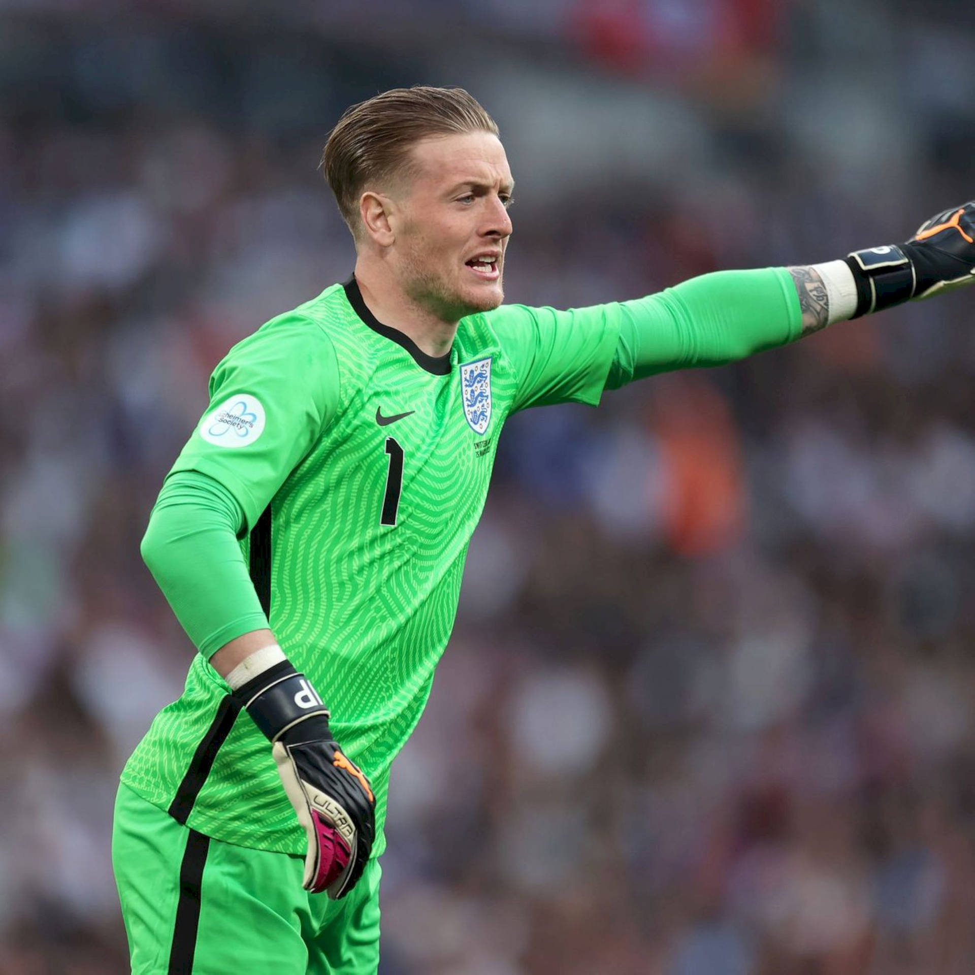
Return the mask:
<path id="1" fill-rule="evenodd" d="M 320 168 L 353 236 L 368 183 L 402 171 L 419 139 L 469 132 L 498 135 L 494 120 L 462 88 L 394 88 L 347 108 L 329 134 Z"/>

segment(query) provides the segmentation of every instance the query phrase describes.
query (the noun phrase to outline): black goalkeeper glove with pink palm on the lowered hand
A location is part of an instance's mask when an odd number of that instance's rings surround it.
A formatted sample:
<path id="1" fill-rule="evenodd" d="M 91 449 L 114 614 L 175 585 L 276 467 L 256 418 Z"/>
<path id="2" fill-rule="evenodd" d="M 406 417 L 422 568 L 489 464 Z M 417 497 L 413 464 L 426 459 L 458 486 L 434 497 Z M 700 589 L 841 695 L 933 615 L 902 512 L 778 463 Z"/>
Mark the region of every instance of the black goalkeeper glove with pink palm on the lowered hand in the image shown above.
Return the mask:
<path id="1" fill-rule="evenodd" d="M 375 837 L 369 780 L 342 754 L 329 730 L 328 709 L 287 660 L 234 696 L 273 743 L 285 792 L 308 836 L 305 890 L 344 897 L 362 877 Z"/>

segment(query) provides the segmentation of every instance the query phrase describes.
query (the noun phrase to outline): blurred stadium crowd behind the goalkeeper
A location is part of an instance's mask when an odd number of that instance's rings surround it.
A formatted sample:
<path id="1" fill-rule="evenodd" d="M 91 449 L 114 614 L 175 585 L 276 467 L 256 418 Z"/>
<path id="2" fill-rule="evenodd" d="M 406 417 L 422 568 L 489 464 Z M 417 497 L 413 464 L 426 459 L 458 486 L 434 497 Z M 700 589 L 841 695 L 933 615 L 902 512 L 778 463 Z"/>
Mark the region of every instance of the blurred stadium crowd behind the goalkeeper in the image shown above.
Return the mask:
<path id="1" fill-rule="evenodd" d="M 344 280 L 343 108 L 459 84 L 578 306 L 975 196 L 975 9 L 0 0 L 0 973 L 127 971 L 123 761 L 193 652 L 138 556 L 227 348 Z M 961 292 L 506 427 L 394 765 L 383 975 L 975 970 Z"/>

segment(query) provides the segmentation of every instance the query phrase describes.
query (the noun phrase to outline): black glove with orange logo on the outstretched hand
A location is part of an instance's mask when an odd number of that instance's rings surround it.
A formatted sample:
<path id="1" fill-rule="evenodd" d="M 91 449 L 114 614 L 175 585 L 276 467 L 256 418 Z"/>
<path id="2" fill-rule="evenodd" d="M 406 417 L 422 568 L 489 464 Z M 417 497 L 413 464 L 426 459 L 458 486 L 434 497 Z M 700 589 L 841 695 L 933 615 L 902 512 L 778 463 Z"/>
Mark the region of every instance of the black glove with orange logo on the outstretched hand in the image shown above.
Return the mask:
<path id="1" fill-rule="evenodd" d="M 975 201 L 932 216 L 906 244 L 846 258 L 857 288 L 853 318 L 975 282 Z"/>

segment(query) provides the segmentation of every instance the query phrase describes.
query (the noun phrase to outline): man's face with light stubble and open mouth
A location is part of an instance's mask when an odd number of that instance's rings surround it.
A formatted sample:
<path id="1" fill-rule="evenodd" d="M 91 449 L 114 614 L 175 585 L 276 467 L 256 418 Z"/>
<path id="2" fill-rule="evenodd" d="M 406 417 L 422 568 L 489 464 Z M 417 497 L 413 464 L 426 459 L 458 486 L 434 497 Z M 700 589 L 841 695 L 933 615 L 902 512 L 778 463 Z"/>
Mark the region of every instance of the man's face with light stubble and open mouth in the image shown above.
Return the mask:
<path id="1" fill-rule="evenodd" d="M 392 265 L 403 289 L 445 322 L 496 308 L 514 180 L 487 132 L 421 139 L 390 222 Z"/>

